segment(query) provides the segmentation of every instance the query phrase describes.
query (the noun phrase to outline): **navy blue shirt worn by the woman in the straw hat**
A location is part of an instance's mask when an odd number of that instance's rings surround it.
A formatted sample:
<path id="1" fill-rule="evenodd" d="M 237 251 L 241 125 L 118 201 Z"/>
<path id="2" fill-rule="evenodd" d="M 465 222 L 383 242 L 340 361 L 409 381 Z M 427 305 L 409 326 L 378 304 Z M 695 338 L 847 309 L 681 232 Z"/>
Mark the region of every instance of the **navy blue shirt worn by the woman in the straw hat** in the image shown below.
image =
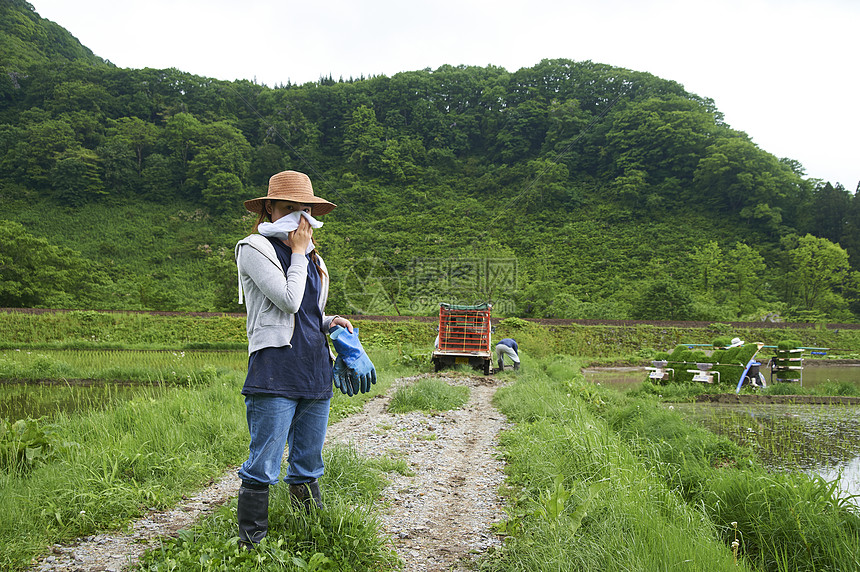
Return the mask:
<path id="1" fill-rule="evenodd" d="M 269 238 L 284 269 L 292 251 L 280 240 Z M 248 357 L 248 375 L 242 395 L 268 394 L 290 399 L 331 399 L 331 358 L 319 308 L 320 276 L 308 258 L 308 279 L 301 306 L 295 314 L 290 346 L 263 348 Z"/>

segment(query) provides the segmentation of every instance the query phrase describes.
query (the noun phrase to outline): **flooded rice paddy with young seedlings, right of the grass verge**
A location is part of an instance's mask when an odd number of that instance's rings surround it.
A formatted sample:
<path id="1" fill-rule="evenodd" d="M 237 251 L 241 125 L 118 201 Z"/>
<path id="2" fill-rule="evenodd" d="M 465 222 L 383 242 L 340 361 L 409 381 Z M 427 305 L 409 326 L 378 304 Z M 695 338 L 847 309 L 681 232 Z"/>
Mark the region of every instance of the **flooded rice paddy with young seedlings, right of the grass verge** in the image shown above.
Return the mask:
<path id="1" fill-rule="evenodd" d="M 622 392 L 647 377 L 645 368 L 589 368 L 583 373 L 588 381 Z M 763 373 L 768 375 L 767 370 Z M 804 368 L 804 388 L 829 382 L 860 386 L 860 366 Z M 726 392 L 734 393 L 728 385 Z M 751 446 L 774 471 L 800 470 L 838 480 L 841 496 L 860 495 L 860 406 L 677 403 L 672 407 L 717 434 Z M 860 507 L 860 496 L 852 502 Z"/>

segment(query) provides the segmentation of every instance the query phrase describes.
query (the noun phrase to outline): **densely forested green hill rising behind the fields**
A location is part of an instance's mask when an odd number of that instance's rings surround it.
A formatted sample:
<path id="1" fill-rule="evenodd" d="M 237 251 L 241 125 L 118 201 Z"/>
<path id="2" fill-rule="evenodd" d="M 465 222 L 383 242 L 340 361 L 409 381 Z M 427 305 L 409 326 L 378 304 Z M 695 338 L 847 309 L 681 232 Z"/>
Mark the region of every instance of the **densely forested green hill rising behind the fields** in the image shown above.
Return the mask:
<path id="1" fill-rule="evenodd" d="M 235 310 L 242 200 L 289 168 L 339 205 L 331 312 L 860 315 L 857 196 L 676 82 L 559 59 L 268 87 L 2 10 L 0 307 Z"/>

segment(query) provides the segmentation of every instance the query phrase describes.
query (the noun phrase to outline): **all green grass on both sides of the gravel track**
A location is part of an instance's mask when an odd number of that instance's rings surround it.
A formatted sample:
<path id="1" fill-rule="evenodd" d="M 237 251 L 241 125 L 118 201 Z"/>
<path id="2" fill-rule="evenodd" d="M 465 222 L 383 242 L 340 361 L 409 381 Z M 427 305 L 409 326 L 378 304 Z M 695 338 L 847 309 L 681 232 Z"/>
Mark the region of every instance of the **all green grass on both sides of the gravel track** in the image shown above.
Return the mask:
<path id="1" fill-rule="evenodd" d="M 382 334 L 373 339 L 368 351 L 379 381 L 368 394 L 336 393 L 332 422 L 387 391 L 397 377 L 426 367 L 415 358 L 423 345 Z M 181 358 L 116 353 L 133 358 L 122 364 L 125 374 L 198 358 L 188 351 Z M 51 375 L 63 376 L 88 367 L 105 371 L 116 361 L 113 354 L 39 350 L 27 359 L 38 358 Z M 122 527 L 150 507 L 172 506 L 244 460 L 240 389 L 247 358 L 242 352 L 199 354 L 190 371 L 211 367 L 211 377 L 189 386 L 137 387 L 104 407 L 56 412 L 42 421 L 50 428 L 50 457 L 26 474 L 0 473 L 0 568 L 23 569 L 51 543 Z M 516 375 L 505 374 L 512 384 L 497 394 L 514 424 L 502 435 L 510 508 L 500 532 L 508 539 L 482 559 L 482 569 L 735 569 L 735 534 L 740 569 L 857 568 L 858 517 L 832 494 L 832 483 L 770 475 L 748 449 L 668 410 L 660 394 L 622 396 L 585 383 L 580 360 L 569 355 L 524 356 L 528 362 Z M 35 367 L 20 356 L 6 359 Z M 432 383 L 425 387 L 425 381 Z M 448 409 L 468 399 L 466 388 L 438 379 L 415 383 L 410 391 L 417 397 L 403 389 L 406 410 Z M 396 568 L 380 540 L 374 500 L 386 473 L 410 474 L 410 467 L 403 459 L 366 460 L 348 448 L 325 454 L 323 512 L 297 514 L 276 489 L 272 533 L 260 551 L 236 550 L 230 505 L 150 552 L 144 569 Z"/>

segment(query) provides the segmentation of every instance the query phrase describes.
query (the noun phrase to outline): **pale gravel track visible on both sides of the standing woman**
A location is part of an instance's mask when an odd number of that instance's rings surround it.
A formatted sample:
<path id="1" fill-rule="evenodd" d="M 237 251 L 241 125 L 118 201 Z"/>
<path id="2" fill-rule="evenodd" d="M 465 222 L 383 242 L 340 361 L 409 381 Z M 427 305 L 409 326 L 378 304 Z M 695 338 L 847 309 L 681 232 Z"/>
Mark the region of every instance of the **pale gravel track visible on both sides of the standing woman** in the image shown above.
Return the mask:
<path id="1" fill-rule="evenodd" d="M 435 375 L 435 374 L 434 374 Z M 465 407 L 434 415 L 391 415 L 386 407 L 397 387 L 420 377 L 398 379 L 385 396 L 328 429 L 327 443 L 349 443 L 360 454 L 402 458 L 413 476 L 390 474 L 383 492 L 384 532 L 406 563 L 406 572 L 466 570 L 468 560 L 498 544 L 490 530 L 503 517 L 496 491 L 504 480 L 497 439 L 505 420 L 491 405 L 498 381 L 492 377 L 443 373 L 465 385 Z M 160 538 L 174 535 L 238 494 L 236 469 L 167 511 L 135 521 L 127 533 L 89 536 L 54 545 L 34 572 L 119 572 L 136 563 Z"/>

